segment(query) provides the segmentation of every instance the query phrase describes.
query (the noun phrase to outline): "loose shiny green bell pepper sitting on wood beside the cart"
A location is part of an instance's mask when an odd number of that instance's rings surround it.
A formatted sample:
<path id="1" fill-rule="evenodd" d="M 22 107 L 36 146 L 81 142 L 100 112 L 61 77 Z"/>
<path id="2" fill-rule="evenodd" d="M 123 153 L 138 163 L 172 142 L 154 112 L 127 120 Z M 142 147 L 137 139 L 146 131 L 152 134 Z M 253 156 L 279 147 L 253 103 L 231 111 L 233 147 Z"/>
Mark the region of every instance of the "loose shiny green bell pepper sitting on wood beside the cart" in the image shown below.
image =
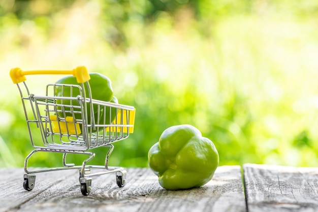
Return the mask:
<path id="1" fill-rule="evenodd" d="M 148 152 L 150 169 L 168 190 L 205 185 L 212 179 L 218 161 L 214 144 L 192 125 L 169 127 Z"/>

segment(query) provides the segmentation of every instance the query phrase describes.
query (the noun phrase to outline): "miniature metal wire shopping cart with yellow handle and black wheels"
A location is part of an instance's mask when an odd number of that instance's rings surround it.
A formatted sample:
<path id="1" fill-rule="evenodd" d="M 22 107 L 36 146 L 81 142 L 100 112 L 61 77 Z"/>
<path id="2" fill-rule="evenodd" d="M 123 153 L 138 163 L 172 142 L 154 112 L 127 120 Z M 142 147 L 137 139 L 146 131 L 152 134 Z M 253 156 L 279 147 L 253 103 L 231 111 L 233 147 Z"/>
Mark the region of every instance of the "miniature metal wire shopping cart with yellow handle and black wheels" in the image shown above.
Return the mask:
<path id="1" fill-rule="evenodd" d="M 73 75 L 79 85 L 48 84 L 45 94 L 36 95 L 29 92 L 25 76 L 39 74 Z M 73 70 L 23 71 L 13 68 L 10 77 L 18 86 L 30 141 L 35 148 L 24 160 L 25 190 L 30 191 L 35 187 L 36 173 L 65 169 L 79 169 L 83 195 L 90 193 L 91 177 L 96 175 L 116 173 L 117 185 L 124 186 L 126 171 L 122 167 L 108 166 L 108 160 L 114 148 L 112 144 L 127 138 L 134 130 L 134 107 L 93 99 L 90 77 L 84 66 Z M 57 93 L 56 90 L 61 92 Z M 105 165 L 88 165 L 95 156 L 89 150 L 98 147 L 109 148 Z M 37 152 L 61 153 L 63 166 L 29 170 L 27 162 Z M 68 154 L 84 154 L 87 159 L 82 165 L 69 164 L 66 161 Z"/>

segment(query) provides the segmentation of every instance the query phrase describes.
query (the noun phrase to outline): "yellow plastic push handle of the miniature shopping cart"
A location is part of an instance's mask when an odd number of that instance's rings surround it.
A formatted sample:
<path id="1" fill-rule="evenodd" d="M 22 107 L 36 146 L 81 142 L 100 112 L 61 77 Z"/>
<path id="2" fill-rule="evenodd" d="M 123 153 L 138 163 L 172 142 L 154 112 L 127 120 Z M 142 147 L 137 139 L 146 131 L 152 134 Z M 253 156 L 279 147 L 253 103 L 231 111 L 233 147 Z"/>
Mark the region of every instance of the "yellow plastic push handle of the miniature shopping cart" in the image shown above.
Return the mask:
<path id="1" fill-rule="evenodd" d="M 21 70 L 12 68 L 10 77 L 14 84 L 24 82 L 25 75 L 73 75 L 78 83 L 84 83 L 90 80 L 90 76 L 85 66 L 78 66 L 73 70 Z"/>

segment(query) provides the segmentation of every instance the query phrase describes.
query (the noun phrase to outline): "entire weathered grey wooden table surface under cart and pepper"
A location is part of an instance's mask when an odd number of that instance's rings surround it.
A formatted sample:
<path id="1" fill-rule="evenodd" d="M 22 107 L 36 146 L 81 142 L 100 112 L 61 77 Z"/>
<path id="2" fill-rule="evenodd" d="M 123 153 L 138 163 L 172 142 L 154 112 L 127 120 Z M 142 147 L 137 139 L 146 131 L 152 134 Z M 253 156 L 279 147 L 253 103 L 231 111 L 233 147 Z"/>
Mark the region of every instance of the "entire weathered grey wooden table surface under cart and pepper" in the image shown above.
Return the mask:
<path id="1" fill-rule="evenodd" d="M 2 168 L 0 211 L 318 211 L 318 168 L 219 166 L 206 185 L 179 191 L 163 189 L 148 168 L 126 170 L 124 187 L 115 173 L 94 176 L 83 196 L 78 170 L 38 173 L 28 192 L 23 169 Z"/>

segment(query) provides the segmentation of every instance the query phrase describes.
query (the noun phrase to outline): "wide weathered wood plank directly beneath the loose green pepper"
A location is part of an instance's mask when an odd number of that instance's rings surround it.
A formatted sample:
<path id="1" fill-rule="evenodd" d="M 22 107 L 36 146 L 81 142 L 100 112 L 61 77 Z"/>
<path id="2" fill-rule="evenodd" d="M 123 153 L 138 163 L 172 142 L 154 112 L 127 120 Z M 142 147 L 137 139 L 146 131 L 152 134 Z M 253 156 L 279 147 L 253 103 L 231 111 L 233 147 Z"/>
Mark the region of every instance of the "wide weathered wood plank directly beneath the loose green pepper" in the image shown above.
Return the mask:
<path id="1" fill-rule="evenodd" d="M 22 202 L 16 211 L 246 211 L 240 166 L 220 166 L 208 184 L 194 189 L 168 191 L 163 189 L 148 168 L 128 168 L 127 183 L 118 188 L 115 174 L 92 178 L 88 196 L 80 192 L 78 175 L 41 189 Z M 56 178 L 58 171 L 49 178 Z M 13 192 L 19 196 L 29 195 Z M 12 192 L 12 191 L 11 191 Z M 13 195 L 11 195 L 13 196 Z M 0 206 L 1 207 L 1 206 Z"/>

